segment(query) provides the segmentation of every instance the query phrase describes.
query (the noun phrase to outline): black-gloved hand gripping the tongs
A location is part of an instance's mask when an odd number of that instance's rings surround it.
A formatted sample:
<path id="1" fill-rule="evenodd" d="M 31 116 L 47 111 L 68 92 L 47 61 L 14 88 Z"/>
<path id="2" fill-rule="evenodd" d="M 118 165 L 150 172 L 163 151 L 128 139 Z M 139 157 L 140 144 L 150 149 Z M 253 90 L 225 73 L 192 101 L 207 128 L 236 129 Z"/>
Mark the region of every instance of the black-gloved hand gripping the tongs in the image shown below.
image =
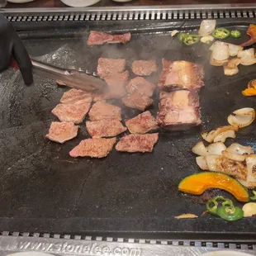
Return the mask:
<path id="1" fill-rule="evenodd" d="M 0 71 L 8 69 L 12 58 L 17 60 L 26 85 L 33 83 L 31 59 L 12 23 L 0 15 Z"/>

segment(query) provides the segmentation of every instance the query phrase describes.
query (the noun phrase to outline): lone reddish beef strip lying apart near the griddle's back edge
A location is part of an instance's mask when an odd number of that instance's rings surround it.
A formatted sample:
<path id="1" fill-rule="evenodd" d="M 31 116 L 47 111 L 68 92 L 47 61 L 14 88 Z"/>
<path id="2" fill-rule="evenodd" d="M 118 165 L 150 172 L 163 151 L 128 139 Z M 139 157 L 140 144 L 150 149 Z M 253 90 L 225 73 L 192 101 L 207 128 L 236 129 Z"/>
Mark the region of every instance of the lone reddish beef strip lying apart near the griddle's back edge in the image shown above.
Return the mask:
<path id="1" fill-rule="evenodd" d="M 122 34 L 122 35 L 111 35 L 104 32 L 99 31 L 91 31 L 90 36 L 88 38 L 88 45 L 103 45 L 107 44 L 126 44 L 130 41 L 130 33 Z"/>

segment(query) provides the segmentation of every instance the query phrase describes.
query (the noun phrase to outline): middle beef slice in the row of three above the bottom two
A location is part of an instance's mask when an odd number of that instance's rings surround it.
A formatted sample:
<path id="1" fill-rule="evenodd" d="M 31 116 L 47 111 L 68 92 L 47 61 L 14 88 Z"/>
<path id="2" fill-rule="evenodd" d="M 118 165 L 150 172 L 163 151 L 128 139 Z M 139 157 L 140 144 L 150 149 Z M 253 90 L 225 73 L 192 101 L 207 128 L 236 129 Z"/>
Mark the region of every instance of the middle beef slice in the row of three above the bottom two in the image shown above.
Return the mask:
<path id="1" fill-rule="evenodd" d="M 87 121 L 86 127 L 92 138 L 115 137 L 127 130 L 118 119 Z"/>

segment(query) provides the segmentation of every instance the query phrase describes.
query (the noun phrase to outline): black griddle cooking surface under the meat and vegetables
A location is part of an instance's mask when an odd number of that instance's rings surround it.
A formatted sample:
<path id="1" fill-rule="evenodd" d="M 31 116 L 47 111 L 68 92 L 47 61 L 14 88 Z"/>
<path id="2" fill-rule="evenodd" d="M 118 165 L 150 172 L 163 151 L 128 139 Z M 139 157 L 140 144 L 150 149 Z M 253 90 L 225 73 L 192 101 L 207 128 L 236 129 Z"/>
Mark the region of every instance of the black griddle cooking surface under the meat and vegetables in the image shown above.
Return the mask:
<path id="1" fill-rule="evenodd" d="M 217 26 L 239 29 L 243 36 L 228 41 L 239 44 L 248 39 L 246 30 L 254 18 L 219 19 Z M 209 64 L 210 50 L 201 43 L 181 45 L 170 31 L 197 33 L 195 21 L 84 21 L 65 23 L 14 23 L 35 59 L 63 67 L 97 70 L 97 59 L 125 58 L 127 68 L 135 59 L 187 60 L 203 64 L 205 87 L 200 92 L 202 125 L 185 132 L 159 131 L 159 143 L 152 154 L 118 153 L 106 159 L 73 159 L 69 151 L 88 138 L 84 122 L 78 137 L 64 145 L 45 139 L 51 110 L 67 88 L 50 79 L 35 76 L 32 87 L 24 86 L 21 75 L 8 70 L 0 74 L 0 230 L 69 233 L 76 235 L 111 234 L 134 237 L 172 237 L 175 239 L 254 239 L 256 220 L 235 223 L 201 216 L 195 220 L 176 220 L 183 213 L 201 215 L 205 206 L 195 198 L 178 192 L 178 183 L 199 172 L 192 146 L 201 140 L 202 130 L 227 125 L 227 116 L 241 107 L 255 107 L 254 97 L 241 92 L 256 77 L 255 65 L 239 65 L 239 74 L 226 77 L 222 67 Z M 60 26 L 60 24 L 62 24 Z M 90 30 L 112 33 L 130 31 L 127 45 L 88 47 Z M 130 72 L 130 78 L 134 75 Z M 156 83 L 159 73 L 150 77 Z M 121 105 L 120 102 L 114 102 Z M 154 95 L 155 115 L 158 92 Z M 139 114 L 122 106 L 123 119 Z M 236 140 L 256 152 L 256 123 L 239 130 Z M 225 192 L 217 191 L 235 201 Z M 239 206 L 239 202 L 235 201 Z"/>

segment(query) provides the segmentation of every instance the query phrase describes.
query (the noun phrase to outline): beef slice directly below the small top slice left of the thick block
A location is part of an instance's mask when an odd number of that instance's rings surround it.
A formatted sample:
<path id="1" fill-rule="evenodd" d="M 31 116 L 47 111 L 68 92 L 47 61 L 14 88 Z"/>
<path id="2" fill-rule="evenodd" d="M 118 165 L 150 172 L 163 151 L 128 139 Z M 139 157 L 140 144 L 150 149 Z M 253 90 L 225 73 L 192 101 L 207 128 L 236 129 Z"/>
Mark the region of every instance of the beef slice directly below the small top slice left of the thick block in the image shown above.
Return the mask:
<path id="1" fill-rule="evenodd" d="M 145 78 L 137 77 L 130 80 L 130 83 L 126 86 L 126 92 L 140 92 L 146 96 L 152 97 L 154 93 L 154 83 L 149 83 Z"/>

